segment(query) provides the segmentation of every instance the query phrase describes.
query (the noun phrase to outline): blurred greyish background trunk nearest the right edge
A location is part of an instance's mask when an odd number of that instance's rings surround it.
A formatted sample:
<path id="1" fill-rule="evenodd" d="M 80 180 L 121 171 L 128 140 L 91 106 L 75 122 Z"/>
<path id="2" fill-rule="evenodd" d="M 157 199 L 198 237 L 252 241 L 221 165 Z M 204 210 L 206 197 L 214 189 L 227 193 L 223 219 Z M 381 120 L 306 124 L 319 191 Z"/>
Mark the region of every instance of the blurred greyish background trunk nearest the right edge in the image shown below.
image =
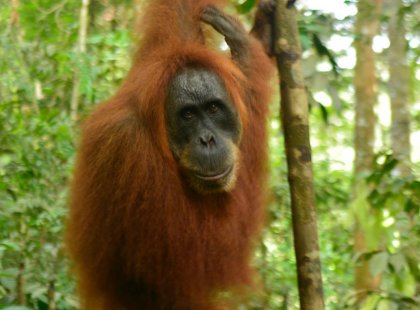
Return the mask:
<path id="1" fill-rule="evenodd" d="M 388 36 L 389 85 L 391 97 L 391 148 L 399 164 L 397 171 L 410 174 L 410 108 L 407 40 L 402 0 L 388 0 L 390 20 Z"/>

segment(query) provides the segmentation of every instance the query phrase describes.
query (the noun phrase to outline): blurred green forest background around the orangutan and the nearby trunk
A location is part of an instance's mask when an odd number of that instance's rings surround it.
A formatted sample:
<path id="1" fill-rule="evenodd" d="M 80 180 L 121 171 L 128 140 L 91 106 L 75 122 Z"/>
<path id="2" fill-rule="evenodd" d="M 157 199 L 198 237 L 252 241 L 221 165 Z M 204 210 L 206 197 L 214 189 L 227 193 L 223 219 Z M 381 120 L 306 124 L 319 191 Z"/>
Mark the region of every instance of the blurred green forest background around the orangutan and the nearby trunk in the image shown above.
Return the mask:
<path id="1" fill-rule="evenodd" d="M 0 309 L 78 307 L 63 231 L 80 124 L 124 78 L 143 2 L 0 0 Z M 256 3 L 227 10 L 250 25 Z M 420 1 L 297 8 L 326 308 L 418 309 Z M 299 308 L 278 102 L 261 291 L 242 309 Z"/>

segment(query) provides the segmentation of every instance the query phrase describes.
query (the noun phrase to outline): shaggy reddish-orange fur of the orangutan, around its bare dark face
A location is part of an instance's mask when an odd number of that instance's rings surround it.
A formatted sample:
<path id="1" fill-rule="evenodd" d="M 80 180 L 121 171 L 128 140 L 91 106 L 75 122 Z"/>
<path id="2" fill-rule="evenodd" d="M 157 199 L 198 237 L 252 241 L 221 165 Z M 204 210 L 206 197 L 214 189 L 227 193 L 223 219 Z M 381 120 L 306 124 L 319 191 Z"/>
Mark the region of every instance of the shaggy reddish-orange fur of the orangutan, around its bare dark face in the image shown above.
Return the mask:
<path id="1" fill-rule="evenodd" d="M 251 283 L 271 65 L 253 38 L 245 73 L 205 46 L 200 12 L 217 4 L 153 1 L 125 82 L 85 122 L 67 228 L 84 309 L 211 309 L 218 292 Z M 191 191 L 168 146 L 166 92 L 188 64 L 222 78 L 245 123 L 229 193 Z"/>

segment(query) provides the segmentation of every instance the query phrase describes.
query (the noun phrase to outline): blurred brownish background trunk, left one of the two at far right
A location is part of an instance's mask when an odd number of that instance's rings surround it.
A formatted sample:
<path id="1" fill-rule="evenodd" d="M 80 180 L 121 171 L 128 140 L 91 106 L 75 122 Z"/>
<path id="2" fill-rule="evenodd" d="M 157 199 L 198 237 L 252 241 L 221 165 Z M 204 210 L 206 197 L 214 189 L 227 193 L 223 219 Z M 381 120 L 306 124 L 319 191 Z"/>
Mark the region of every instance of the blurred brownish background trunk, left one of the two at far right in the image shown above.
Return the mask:
<path id="1" fill-rule="evenodd" d="M 374 163 L 374 143 L 376 117 L 374 106 L 377 101 L 377 80 L 373 38 L 378 32 L 382 0 L 360 0 L 355 24 L 356 67 L 354 72 L 355 89 L 355 129 L 354 129 L 354 199 L 355 228 L 354 252 L 359 257 L 355 266 L 355 290 L 358 301 L 363 300 L 369 291 L 380 284 L 380 276 L 372 276 L 369 262 L 363 254 L 377 250 L 377 244 L 368 242 L 369 224 L 366 220 L 375 217 L 369 203 L 364 199 L 367 194 L 363 177 L 372 171 Z"/>

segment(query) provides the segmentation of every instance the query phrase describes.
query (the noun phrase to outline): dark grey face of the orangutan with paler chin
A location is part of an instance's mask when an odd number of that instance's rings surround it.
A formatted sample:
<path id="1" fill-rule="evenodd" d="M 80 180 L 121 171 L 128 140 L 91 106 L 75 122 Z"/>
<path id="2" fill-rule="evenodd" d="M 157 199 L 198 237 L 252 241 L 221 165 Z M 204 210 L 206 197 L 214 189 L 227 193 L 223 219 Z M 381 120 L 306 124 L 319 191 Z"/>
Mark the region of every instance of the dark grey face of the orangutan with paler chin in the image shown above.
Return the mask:
<path id="1" fill-rule="evenodd" d="M 220 78 L 184 68 L 170 84 L 165 112 L 172 153 L 190 186 L 200 193 L 232 189 L 241 123 Z"/>

